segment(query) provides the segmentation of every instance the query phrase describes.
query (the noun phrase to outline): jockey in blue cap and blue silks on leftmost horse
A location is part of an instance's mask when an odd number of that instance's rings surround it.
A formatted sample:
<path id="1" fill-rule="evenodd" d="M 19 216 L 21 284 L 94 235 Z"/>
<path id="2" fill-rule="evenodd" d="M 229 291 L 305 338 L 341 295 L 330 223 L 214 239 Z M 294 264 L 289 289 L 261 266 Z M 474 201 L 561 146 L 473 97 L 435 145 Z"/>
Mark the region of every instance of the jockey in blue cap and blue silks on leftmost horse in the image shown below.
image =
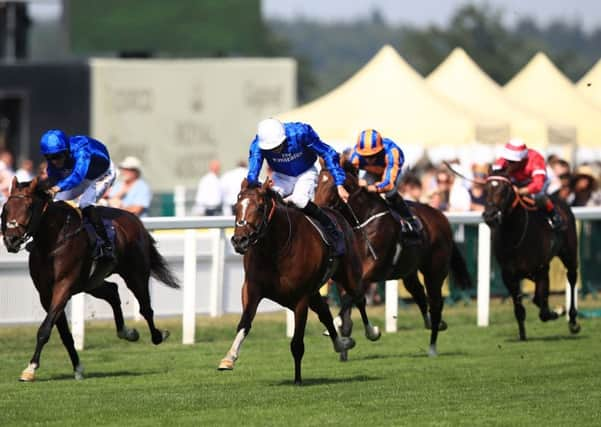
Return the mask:
<path id="1" fill-rule="evenodd" d="M 60 130 L 49 130 L 40 140 L 40 150 L 48 162 L 47 173 L 55 200 L 79 199 L 82 214 L 102 240 L 94 259 L 114 259 L 113 247 L 98 211 L 94 207 L 116 177 L 109 153 L 99 141 L 88 136 L 67 137 Z"/>

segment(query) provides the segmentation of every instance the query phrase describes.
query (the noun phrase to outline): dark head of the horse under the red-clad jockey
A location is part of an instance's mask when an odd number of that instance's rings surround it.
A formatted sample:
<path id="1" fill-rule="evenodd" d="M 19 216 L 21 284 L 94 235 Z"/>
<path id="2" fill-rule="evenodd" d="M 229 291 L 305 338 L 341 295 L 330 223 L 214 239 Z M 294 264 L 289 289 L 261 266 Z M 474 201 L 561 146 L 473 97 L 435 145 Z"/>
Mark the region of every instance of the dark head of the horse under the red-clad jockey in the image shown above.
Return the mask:
<path id="1" fill-rule="evenodd" d="M 502 171 L 490 175 L 486 179 L 486 206 L 482 214 L 489 227 L 501 225 L 519 202 L 519 196 L 511 180 Z"/>

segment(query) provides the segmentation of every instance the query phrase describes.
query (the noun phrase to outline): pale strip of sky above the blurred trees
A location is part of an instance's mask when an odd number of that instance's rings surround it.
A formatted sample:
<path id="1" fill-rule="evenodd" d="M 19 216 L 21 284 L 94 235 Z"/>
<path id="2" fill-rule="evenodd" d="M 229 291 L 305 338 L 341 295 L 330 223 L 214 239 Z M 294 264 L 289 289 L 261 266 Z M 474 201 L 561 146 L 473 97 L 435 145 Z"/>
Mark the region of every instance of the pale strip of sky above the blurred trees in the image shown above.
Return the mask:
<path id="1" fill-rule="evenodd" d="M 262 0 L 262 7 L 267 18 L 305 16 L 323 21 L 352 20 L 378 8 L 391 23 L 426 26 L 446 24 L 465 3 L 502 8 L 508 24 L 530 16 L 539 24 L 563 18 L 582 22 L 587 31 L 601 27 L 601 0 Z"/>

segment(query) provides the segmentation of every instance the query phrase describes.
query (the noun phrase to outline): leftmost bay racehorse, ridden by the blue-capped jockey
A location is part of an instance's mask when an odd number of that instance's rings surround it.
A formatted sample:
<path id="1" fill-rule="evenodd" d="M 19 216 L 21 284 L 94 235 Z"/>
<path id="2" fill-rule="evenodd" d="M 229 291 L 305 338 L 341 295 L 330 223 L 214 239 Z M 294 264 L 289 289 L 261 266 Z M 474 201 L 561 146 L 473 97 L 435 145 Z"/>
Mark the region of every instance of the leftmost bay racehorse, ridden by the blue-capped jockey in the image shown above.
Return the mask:
<path id="1" fill-rule="evenodd" d="M 99 208 L 103 218 L 115 228 L 116 260 L 93 262 L 92 241 L 81 215 L 65 202 L 54 202 L 45 192 L 47 182 L 34 178 L 31 182 L 13 180 L 10 196 L 2 210 L 2 234 L 9 252 L 18 252 L 29 239 L 33 245 L 29 255 L 29 272 L 40 294 L 46 317 L 37 334 L 35 352 L 21 381 L 33 381 L 40 366 L 42 348 L 48 342 L 56 324 L 61 340 L 69 353 L 76 379 L 83 378 L 83 365 L 75 350 L 64 313 L 69 298 L 79 292 L 89 292 L 103 298 L 113 307 L 119 304 L 117 287 L 104 280 L 109 274 L 119 274 L 140 303 L 140 313 L 146 319 L 152 342 L 160 344 L 168 336 L 154 325 L 150 305 L 148 280 L 152 275 L 172 288 L 177 279 L 159 254 L 155 242 L 135 215 L 113 208 Z M 123 314 L 115 311 L 118 333 L 127 334 Z M 133 337 L 130 337 L 133 338 Z"/>

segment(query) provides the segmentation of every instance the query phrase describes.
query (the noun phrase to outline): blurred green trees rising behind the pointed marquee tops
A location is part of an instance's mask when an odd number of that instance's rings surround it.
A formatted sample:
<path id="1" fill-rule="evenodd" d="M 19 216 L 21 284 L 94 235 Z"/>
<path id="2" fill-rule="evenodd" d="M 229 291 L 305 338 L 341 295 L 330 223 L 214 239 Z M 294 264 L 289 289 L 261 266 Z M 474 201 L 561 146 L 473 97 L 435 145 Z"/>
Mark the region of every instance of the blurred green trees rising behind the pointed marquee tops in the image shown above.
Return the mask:
<path id="1" fill-rule="evenodd" d="M 557 21 L 540 27 L 529 18 L 509 27 L 503 18 L 501 9 L 467 4 L 443 27 L 393 26 L 377 12 L 344 24 L 299 19 L 271 21 L 269 26 L 289 40 L 293 54 L 310 61 L 318 77 L 313 88 L 303 91 L 308 96 L 301 100 L 339 85 L 386 43 L 422 75 L 430 73 L 455 47 L 462 47 L 499 84 L 505 84 L 537 51 L 546 52 L 573 80 L 601 57 L 601 28 L 587 34 L 577 22 Z"/>

